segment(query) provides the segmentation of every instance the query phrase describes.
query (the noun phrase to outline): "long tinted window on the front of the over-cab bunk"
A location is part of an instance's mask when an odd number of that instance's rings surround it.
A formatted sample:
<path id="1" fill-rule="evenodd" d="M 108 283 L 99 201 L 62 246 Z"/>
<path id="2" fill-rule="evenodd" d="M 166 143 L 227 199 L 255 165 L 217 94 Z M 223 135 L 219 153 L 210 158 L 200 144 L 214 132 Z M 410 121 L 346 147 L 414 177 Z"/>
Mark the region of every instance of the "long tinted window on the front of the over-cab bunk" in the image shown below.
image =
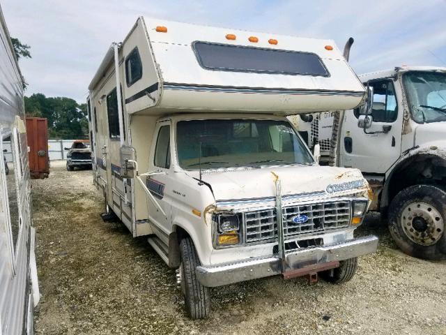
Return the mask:
<path id="1" fill-rule="evenodd" d="M 329 77 L 317 54 L 289 50 L 194 42 L 199 64 L 208 70 Z"/>

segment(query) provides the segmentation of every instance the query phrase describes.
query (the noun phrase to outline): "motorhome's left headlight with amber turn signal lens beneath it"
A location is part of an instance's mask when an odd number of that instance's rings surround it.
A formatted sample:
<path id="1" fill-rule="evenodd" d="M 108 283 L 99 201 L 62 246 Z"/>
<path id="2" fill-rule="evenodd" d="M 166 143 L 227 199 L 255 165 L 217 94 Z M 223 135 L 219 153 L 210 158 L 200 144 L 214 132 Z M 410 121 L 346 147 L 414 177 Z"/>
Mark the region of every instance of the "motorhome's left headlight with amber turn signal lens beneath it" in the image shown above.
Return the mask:
<path id="1" fill-rule="evenodd" d="M 240 214 L 217 214 L 214 216 L 216 246 L 240 244 Z"/>

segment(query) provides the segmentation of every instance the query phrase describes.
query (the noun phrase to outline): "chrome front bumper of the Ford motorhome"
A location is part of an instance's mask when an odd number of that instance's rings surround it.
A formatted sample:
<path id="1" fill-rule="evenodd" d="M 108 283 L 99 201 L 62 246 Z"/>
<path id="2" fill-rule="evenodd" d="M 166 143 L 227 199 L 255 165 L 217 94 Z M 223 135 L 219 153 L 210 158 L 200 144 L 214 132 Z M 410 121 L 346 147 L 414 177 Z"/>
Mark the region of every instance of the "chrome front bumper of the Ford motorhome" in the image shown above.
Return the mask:
<path id="1" fill-rule="evenodd" d="M 302 248 L 287 251 L 284 264 L 286 270 L 305 269 L 327 262 L 347 260 L 376 252 L 378 237 L 360 237 L 339 244 Z M 197 267 L 197 278 L 204 286 L 215 287 L 282 274 L 282 259 L 278 255 L 249 258 L 240 262 Z"/>

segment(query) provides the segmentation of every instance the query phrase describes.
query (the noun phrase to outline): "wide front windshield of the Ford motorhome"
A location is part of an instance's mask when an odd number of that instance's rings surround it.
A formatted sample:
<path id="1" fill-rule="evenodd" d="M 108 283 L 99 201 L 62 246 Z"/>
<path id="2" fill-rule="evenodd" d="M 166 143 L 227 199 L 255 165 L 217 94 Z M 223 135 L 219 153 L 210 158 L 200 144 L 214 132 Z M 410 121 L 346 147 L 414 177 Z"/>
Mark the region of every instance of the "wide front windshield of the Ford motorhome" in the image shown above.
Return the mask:
<path id="1" fill-rule="evenodd" d="M 286 121 L 192 120 L 176 126 L 178 163 L 185 170 L 312 164 L 312 156 Z"/>

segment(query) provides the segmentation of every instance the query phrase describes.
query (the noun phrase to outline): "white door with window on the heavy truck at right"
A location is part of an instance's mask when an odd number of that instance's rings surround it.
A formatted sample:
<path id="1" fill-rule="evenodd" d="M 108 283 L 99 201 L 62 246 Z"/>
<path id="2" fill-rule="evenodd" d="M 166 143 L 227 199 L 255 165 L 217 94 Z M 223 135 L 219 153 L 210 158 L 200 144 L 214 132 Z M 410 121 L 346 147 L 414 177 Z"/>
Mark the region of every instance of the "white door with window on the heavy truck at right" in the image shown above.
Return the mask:
<path id="1" fill-rule="evenodd" d="M 374 88 L 373 124 L 367 134 L 357 126 L 359 109 L 345 112 L 341 132 L 340 163 L 346 168 L 358 168 L 364 174 L 385 174 L 401 153 L 403 110 L 399 91 L 393 80 L 369 82 Z M 385 131 L 385 133 L 383 133 Z"/>

